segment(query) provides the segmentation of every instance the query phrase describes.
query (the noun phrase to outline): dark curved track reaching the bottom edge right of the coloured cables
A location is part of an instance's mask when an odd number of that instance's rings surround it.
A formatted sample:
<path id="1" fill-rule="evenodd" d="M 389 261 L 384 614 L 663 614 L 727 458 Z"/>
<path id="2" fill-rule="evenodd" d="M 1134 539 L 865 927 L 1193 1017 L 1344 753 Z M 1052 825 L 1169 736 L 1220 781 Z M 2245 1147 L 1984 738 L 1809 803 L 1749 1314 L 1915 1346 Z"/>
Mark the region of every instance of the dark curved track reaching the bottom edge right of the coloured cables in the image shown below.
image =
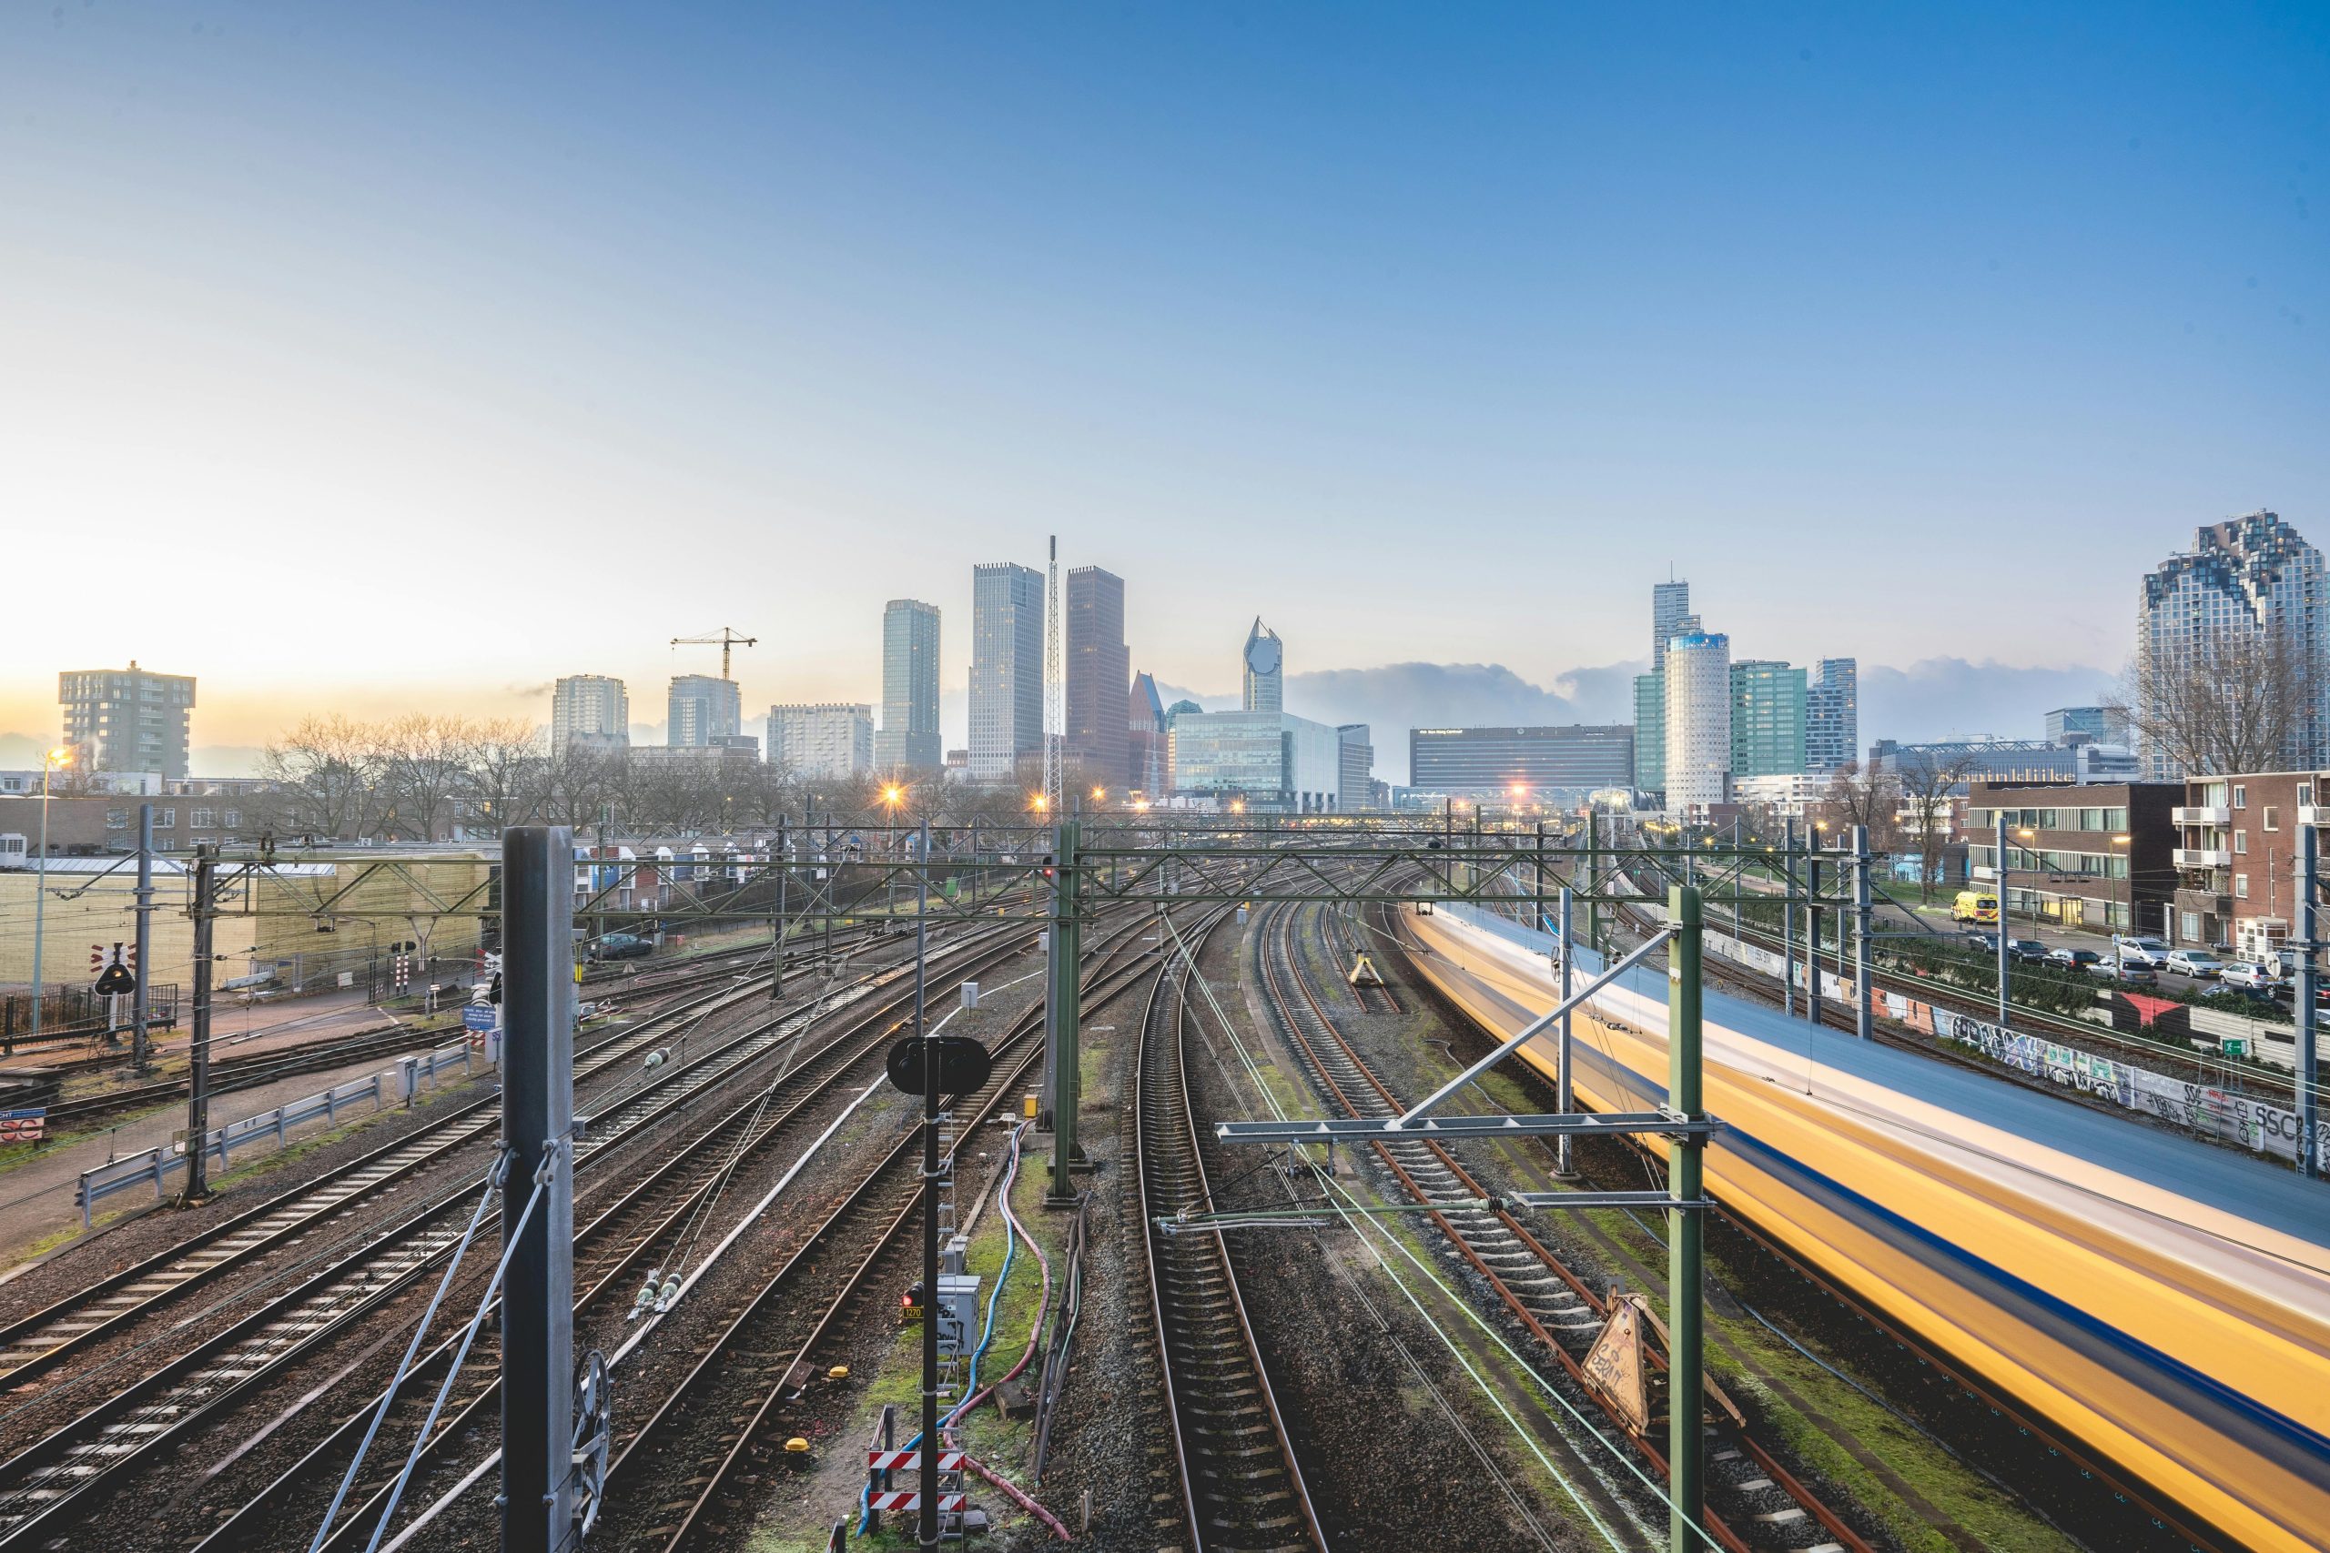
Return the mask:
<path id="1" fill-rule="evenodd" d="M 1202 938 L 1200 938 L 1202 941 Z M 1188 962 L 1158 971 L 1135 1059 L 1135 1157 L 1165 1411 L 1193 1553 L 1326 1553 L 1219 1229 L 1184 1069 Z"/>

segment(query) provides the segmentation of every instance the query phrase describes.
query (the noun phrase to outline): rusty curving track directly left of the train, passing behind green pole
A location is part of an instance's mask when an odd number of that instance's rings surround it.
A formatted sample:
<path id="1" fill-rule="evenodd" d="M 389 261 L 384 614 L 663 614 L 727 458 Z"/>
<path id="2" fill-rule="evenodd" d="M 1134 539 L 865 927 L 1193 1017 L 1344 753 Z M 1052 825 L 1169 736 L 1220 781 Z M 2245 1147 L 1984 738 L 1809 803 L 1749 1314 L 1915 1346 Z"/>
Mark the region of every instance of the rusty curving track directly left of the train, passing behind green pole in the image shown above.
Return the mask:
<path id="1" fill-rule="evenodd" d="M 1405 1111 L 1375 1069 L 1344 1038 L 1319 999 L 1293 948 L 1300 913 L 1279 908 L 1268 922 L 1261 966 L 1268 1001 L 1330 1106 L 1349 1118 L 1391 1118 Z M 1608 1302 L 1573 1274 L 1545 1243 L 1501 1206 L 1480 1206 L 1496 1194 L 1438 1141 L 1370 1143 L 1400 1190 L 1431 1208 L 1433 1225 L 1487 1283 L 1489 1292 L 1545 1346 L 1570 1381 L 1603 1406 L 1657 1476 L 1666 1476 L 1666 1453 L 1647 1434 L 1633 1432 L 1603 1402 L 1582 1367 L 1610 1318 Z M 1650 1348 L 1664 1369 L 1664 1353 Z M 1869 1544 L 1810 1488 L 1796 1481 L 1729 1409 L 1715 1397 L 1706 1409 L 1706 1525 L 1731 1553 L 1873 1553 Z"/>

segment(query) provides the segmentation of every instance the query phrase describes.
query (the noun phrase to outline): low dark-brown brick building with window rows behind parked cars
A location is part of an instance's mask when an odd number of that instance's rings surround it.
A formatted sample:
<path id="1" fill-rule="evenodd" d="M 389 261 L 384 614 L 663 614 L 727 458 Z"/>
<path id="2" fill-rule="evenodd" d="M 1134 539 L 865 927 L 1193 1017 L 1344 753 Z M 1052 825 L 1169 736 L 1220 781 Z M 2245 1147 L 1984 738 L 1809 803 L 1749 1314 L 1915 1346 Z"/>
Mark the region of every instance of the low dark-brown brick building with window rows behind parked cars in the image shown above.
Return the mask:
<path id="1" fill-rule="evenodd" d="M 2172 817 L 2181 782 L 1976 782 L 1967 794 L 1967 875 L 1999 889 L 2006 920 L 2158 934 L 2172 924 Z M 2006 878 L 1997 815 L 2006 813 Z M 2286 854 L 2283 854 L 2286 857 Z M 2029 936 L 2029 934 L 2018 934 Z M 2190 941 L 2188 941 L 2190 943 Z"/>

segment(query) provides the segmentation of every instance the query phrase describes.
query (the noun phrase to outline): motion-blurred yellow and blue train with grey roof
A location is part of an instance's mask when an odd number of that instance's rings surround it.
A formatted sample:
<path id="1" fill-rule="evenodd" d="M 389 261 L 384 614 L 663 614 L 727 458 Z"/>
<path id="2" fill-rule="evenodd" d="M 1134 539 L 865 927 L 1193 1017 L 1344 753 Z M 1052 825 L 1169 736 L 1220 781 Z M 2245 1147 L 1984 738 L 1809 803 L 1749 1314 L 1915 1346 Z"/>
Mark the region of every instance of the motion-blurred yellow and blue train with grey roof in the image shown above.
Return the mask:
<path id="1" fill-rule="evenodd" d="M 1556 1004 L 1554 941 L 1410 910 L 1487 1031 Z M 1589 950 L 1580 971 L 1598 969 Z M 1573 1024 L 1591 1111 L 1666 1101 L 1666 978 Z M 1521 1048 L 1554 1071 L 1554 1036 Z M 2195 1541 L 2330 1548 L 2330 1183 L 1706 994 L 1708 1187 Z"/>

